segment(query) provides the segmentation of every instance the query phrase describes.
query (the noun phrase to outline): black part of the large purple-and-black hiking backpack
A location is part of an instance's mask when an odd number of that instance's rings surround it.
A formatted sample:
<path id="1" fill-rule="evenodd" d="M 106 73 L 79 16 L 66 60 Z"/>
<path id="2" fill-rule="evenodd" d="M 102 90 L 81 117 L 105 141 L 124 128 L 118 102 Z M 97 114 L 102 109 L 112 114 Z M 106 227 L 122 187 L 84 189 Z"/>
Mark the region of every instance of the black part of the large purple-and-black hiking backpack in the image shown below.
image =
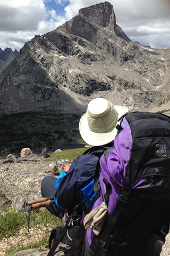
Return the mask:
<path id="1" fill-rule="evenodd" d="M 86 243 L 84 255 L 143 255 L 149 237 L 159 235 L 160 230 L 169 225 L 170 118 L 145 112 L 129 113 L 124 118 L 117 126 L 117 137 L 120 141 L 125 140 L 124 129 L 129 126 L 132 148 L 123 188 L 99 236 L 94 236 L 89 248 Z M 125 122 L 128 122 L 126 126 Z M 106 153 L 105 161 L 106 165 L 107 161 L 112 161 Z M 111 179 L 107 181 L 116 186 L 112 174 L 109 175 Z M 108 202 L 111 200 L 114 198 L 110 196 Z"/>

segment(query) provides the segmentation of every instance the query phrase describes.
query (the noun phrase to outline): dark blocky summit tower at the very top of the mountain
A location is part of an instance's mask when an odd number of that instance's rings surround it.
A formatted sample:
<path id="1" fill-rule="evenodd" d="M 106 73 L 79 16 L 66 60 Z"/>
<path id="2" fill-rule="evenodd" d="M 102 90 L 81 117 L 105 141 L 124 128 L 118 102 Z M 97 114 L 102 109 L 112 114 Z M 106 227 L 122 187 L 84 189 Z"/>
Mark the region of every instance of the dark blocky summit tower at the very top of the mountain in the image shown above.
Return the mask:
<path id="1" fill-rule="evenodd" d="M 91 23 L 96 23 L 99 26 L 109 27 L 116 33 L 116 18 L 113 10 L 113 5 L 109 2 L 91 5 L 80 9 L 80 15 L 84 15 Z"/>

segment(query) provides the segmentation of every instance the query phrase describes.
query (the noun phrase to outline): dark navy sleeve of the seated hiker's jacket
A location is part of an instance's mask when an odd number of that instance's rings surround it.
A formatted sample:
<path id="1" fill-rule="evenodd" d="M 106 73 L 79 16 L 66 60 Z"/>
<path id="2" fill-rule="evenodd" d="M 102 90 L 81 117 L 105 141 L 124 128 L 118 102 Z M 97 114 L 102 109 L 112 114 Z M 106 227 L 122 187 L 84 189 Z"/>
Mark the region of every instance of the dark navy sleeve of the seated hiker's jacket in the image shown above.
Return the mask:
<path id="1" fill-rule="evenodd" d="M 60 179 L 55 198 L 63 209 L 78 203 L 78 192 L 94 178 L 98 159 L 98 156 L 92 154 L 77 157 L 69 172 Z"/>

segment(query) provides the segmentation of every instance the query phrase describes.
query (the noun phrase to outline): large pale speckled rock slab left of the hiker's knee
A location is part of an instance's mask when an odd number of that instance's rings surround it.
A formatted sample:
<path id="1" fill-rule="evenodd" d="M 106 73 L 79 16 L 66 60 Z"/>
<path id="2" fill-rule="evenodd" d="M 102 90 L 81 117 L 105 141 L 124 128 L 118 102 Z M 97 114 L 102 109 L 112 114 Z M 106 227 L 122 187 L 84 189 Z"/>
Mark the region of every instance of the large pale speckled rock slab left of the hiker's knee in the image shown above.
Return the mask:
<path id="1" fill-rule="evenodd" d="M 47 175 L 58 177 L 63 167 L 69 163 L 69 160 L 60 158 L 56 159 L 56 163 L 43 162 L 43 158 L 42 154 L 22 155 L 17 159 L 8 155 L 5 161 L 1 160 L 0 207 L 11 205 L 19 211 L 23 201 L 40 198 L 41 180 Z"/>

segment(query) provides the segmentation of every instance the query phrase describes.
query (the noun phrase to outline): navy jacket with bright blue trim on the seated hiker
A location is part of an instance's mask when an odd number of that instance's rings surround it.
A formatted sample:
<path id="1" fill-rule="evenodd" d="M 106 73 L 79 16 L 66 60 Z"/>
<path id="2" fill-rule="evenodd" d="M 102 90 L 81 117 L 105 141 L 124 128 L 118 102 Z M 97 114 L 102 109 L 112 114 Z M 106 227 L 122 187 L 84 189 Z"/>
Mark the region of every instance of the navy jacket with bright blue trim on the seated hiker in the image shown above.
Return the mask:
<path id="1" fill-rule="evenodd" d="M 89 198 L 94 190 L 94 175 L 99 158 L 111 147 L 113 142 L 88 149 L 83 155 L 74 159 L 69 172 L 61 173 L 56 181 L 55 202 L 58 207 L 69 209 L 84 202 L 83 198 Z M 90 200 L 93 196 L 94 194 L 91 195 Z"/>

